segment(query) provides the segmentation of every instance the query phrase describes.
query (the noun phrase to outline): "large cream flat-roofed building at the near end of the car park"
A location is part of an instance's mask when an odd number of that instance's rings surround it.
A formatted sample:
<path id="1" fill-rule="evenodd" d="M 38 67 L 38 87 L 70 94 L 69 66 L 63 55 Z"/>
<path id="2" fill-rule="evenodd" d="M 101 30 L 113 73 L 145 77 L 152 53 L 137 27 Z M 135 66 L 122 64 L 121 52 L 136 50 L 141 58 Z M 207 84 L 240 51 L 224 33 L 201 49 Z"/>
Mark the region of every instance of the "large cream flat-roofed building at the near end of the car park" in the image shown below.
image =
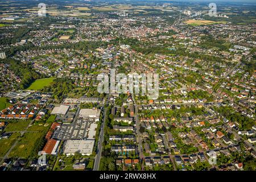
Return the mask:
<path id="1" fill-rule="evenodd" d="M 79 152 L 82 155 L 91 155 L 93 146 L 94 140 L 67 140 L 63 153 L 75 155 L 76 152 Z"/>

